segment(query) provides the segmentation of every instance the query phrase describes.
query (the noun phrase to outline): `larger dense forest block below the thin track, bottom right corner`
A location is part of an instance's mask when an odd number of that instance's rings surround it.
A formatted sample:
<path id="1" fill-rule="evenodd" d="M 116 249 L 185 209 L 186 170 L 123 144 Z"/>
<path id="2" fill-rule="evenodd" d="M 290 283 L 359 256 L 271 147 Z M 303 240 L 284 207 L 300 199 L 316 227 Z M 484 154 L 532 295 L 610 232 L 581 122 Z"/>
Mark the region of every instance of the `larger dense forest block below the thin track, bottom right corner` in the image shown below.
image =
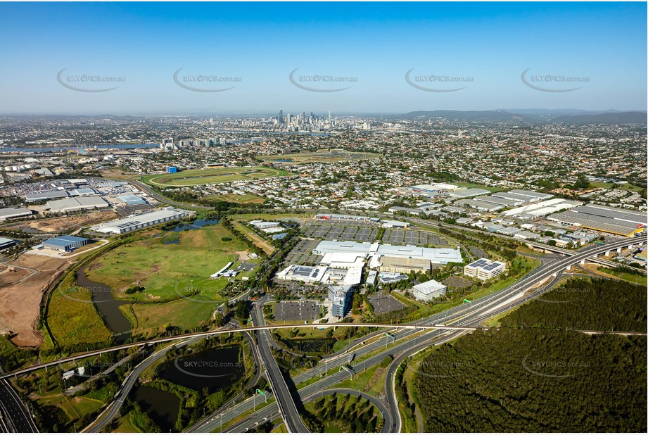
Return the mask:
<path id="1" fill-rule="evenodd" d="M 414 364 L 428 432 L 645 432 L 645 336 L 475 332 Z"/>

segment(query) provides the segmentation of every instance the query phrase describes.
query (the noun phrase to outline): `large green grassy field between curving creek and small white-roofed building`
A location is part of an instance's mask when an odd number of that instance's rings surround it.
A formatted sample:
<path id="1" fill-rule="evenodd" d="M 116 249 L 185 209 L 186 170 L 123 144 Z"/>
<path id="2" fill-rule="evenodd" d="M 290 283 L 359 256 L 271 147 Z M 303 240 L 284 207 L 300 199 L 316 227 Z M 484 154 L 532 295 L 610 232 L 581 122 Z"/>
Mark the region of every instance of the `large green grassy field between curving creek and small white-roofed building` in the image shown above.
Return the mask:
<path id="1" fill-rule="evenodd" d="M 165 241 L 179 243 L 165 245 Z M 241 241 L 222 225 L 210 225 L 119 246 L 94 260 L 86 273 L 91 281 L 112 287 L 115 298 L 163 302 L 191 296 L 220 301 L 218 293 L 227 279 L 210 275 L 229 262 L 236 267 L 240 251 L 246 251 Z M 125 294 L 131 286 L 144 286 L 145 291 Z"/>

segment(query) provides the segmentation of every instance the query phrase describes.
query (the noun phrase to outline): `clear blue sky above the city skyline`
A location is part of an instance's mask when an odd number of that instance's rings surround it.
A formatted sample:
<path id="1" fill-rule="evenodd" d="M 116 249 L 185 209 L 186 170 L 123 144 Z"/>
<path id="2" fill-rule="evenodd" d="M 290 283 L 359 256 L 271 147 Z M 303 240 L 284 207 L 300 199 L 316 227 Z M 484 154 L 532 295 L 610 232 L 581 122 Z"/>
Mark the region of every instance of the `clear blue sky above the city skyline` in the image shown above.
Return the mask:
<path id="1" fill-rule="evenodd" d="M 598 2 L 1 3 L 0 113 L 645 110 L 646 14 Z M 180 68 L 189 87 L 234 88 L 184 89 Z M 303 87 L 348 89 L 298 87 L 296 68 Z M 545 91 L 521 80 L 527 69 Z M 125 81 L 72 81 L 81 75 Z M 315 75 L 356 81 L 306 81 Z"/>

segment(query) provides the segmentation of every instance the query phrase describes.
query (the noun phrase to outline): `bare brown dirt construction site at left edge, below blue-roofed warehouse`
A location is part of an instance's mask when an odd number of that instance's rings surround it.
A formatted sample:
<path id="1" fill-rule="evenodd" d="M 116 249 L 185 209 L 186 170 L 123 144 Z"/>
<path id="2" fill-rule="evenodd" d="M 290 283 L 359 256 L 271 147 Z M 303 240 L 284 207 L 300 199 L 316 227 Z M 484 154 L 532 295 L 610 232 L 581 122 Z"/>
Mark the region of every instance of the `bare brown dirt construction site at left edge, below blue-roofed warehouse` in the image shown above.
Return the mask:
<path id="1" fill-rule="evenodd" d="M 0 334 L 16 346 L 39 346 L 37 333 L 43 292 L 70 265 L 70 260 L 22 254 L 0 265 Z"/>

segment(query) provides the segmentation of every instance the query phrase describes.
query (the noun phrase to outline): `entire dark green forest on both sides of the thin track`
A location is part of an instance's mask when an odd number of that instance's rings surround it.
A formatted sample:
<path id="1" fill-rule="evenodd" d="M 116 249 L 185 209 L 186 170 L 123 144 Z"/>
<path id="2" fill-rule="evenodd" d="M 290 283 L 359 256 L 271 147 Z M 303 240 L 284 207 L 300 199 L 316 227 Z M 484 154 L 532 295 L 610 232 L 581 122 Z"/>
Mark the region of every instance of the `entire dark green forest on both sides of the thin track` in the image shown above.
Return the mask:
<path id="1" fill-rule="evenodd" d="M 426 431 L 647 431 L 647 337 L 555 329 L 645 332 L 645 289 L 578 279 L 542 299 L 407 363 Z"/>

